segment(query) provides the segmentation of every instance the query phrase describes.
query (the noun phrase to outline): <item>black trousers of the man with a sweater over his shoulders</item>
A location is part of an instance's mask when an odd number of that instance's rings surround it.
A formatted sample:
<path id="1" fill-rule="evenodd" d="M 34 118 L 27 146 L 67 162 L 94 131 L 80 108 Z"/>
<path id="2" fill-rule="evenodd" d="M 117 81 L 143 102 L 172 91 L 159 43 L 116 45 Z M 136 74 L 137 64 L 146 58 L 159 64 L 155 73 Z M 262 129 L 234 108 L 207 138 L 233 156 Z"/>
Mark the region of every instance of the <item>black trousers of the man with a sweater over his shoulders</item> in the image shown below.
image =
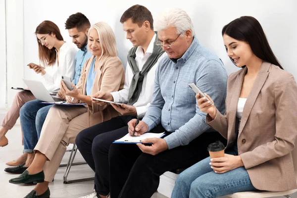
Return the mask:
<path id="1" fill-rule="evenodd" d="M 136 116 L 114 117 L 81 131 L 76 137 L 77 148 L 95 171 L 95 190 L 100 195 L 109 193 L 109 147 L 128 133 L 127 124 L 133 118 Z"/>

